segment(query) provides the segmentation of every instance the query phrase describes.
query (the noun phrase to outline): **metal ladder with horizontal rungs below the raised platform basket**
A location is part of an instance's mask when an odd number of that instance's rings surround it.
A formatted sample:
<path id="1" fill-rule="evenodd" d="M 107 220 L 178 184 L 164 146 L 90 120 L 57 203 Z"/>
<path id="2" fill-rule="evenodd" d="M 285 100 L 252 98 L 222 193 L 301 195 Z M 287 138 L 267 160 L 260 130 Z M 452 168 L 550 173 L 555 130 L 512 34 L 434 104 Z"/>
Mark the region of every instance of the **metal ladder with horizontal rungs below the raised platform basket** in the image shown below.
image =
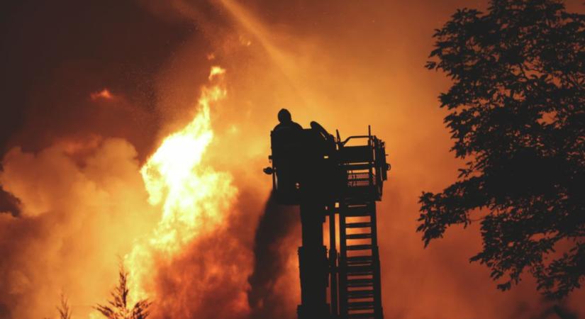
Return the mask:
<path id="1" fill-rule="evenodd" d="M 341 319 L 383 319 L 376 202 L 339 204 Z"/>

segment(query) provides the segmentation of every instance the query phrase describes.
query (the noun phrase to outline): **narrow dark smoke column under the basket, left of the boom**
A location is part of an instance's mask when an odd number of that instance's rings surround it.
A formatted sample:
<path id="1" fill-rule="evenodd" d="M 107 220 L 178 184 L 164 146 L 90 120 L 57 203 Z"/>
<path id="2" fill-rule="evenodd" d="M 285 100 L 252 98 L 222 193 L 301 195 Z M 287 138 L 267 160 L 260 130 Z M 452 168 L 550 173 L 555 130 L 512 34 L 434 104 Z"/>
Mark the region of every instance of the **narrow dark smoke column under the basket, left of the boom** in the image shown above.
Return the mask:
<path id="1" fill-rule="evenodd" d="M 289 291 L 276 284 L 287 271 L 286 250 L 291 247 L 283 247 L 285 240 L 299 230 L 299 223 L 299 209 L 279 205 L 274 193 L 270 194 L 254 238 L 254 271 L 248 278 L 247 293 L 251 319 L 294 318 L 294 313 L 287 311 L 289 298 L 284 296 Z"/>

